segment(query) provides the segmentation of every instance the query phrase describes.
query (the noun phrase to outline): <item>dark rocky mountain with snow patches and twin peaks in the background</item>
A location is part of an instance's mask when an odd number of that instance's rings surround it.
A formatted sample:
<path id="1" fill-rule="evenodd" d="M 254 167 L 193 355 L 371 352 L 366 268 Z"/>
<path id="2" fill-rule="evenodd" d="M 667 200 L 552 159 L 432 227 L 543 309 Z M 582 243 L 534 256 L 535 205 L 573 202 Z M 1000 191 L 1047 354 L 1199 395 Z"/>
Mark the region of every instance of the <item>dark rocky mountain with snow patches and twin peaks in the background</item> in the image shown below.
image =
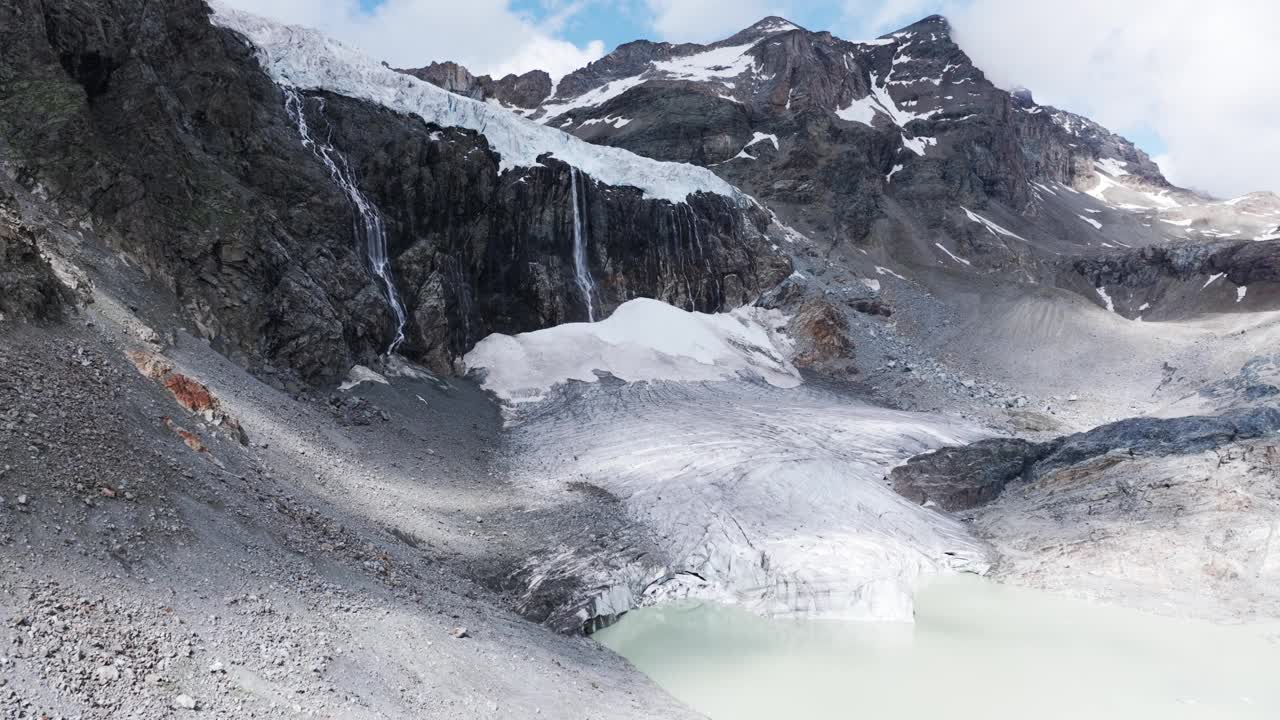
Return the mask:
<path id="1" fill-rule="evenodd" d="M 1239 243 L 1280 219 L 1280 197 L 1245 210 L 1178 188 L 1128 140 L 993 86 L 938 15 L 868 42 L 782 18 L 705 46 L 632 42 L 521 114 L 707 165 L 863 277 L 1052 286 L 1062 256 Z"/>

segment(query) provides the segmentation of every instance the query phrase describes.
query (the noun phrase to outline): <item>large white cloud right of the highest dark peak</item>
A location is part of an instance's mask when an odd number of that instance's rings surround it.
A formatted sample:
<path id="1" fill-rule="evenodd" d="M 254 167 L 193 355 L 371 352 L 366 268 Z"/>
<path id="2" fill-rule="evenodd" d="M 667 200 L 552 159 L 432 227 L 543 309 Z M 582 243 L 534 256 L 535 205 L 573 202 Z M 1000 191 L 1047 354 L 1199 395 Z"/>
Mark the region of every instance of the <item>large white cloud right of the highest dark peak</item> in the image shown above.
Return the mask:
<path id="1" fill-rule="evenodd" d="M 997 85 L 1112 129 L 1155 128 L 1176 182 L 1280 190 L 1274 0 L 972 0 L 948 14 Z"/>

